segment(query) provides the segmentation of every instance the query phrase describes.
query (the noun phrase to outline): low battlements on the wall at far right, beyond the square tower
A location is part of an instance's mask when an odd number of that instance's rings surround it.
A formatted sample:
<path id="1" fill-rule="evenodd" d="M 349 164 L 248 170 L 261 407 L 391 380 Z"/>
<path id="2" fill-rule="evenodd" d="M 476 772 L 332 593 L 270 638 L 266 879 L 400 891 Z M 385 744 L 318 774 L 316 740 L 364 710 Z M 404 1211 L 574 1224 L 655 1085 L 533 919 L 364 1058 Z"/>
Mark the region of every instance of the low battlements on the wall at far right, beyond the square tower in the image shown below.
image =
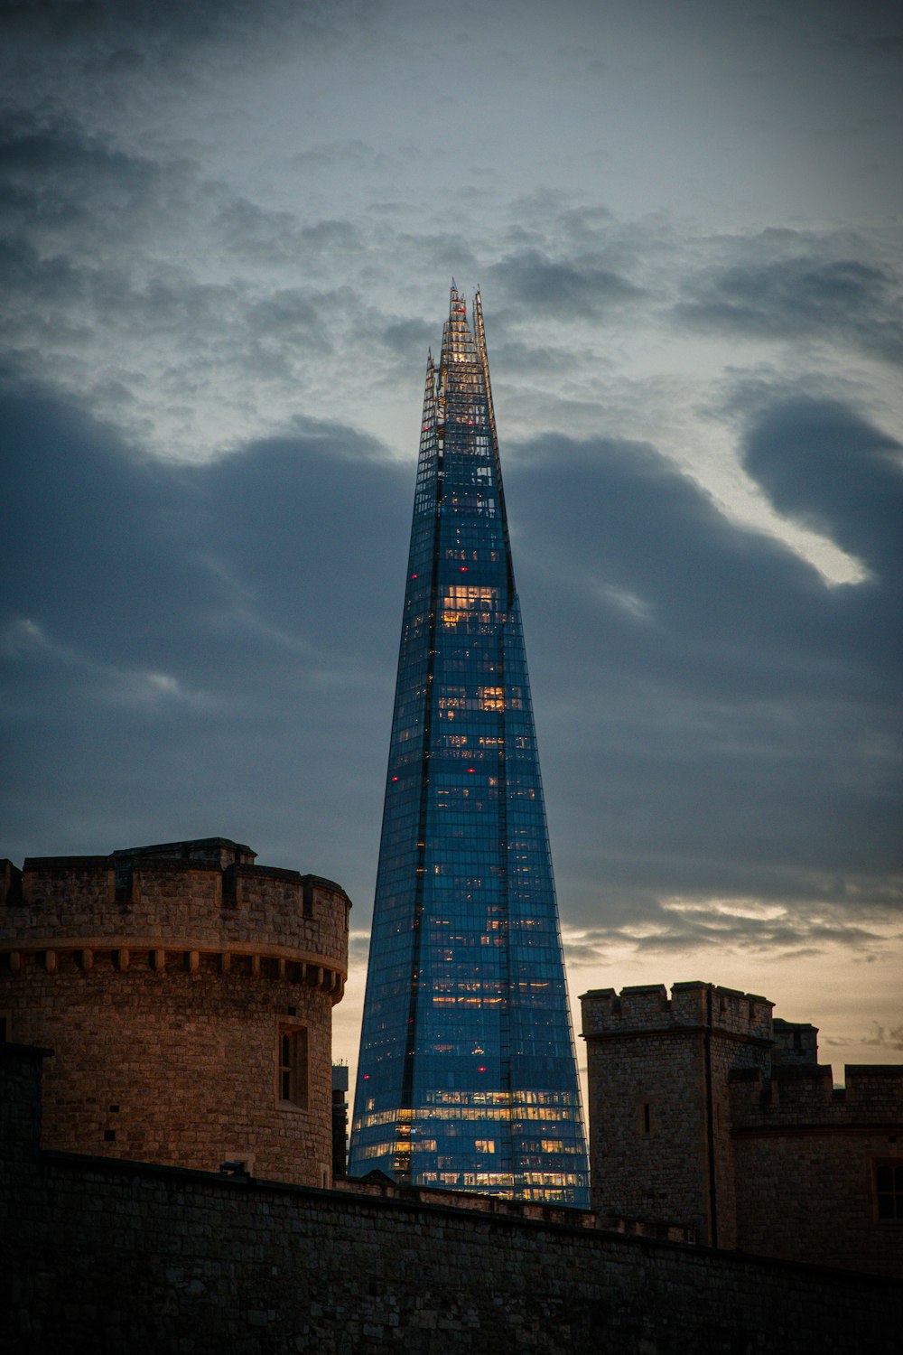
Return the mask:
<path id="1" fill-rule="evenodd" d="M 757 1129 L 903 1129 L 903 1065 L 850 1064 L 834 1087 L 830 1064 L 758 1068 L 728 1075 L 735 1131 Z"/>

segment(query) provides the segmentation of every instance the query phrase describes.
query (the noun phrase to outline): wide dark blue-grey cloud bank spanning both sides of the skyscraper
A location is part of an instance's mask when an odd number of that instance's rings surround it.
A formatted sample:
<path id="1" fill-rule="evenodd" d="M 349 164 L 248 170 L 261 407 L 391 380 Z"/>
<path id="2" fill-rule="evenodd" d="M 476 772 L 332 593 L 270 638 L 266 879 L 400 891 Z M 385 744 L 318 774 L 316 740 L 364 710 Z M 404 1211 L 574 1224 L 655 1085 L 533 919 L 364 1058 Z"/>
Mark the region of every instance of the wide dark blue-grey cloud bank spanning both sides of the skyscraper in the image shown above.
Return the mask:
<path id="1" fill-rule="evenodd" d="M 222 832 L 367 892 L 410 467 L 338 424 L 172 469 L 38 397 L 4 413 L 5 850 Z M 590 928 L 586 957 L 625 938 L 866 954 L 899 904 L 895 447 L 837 402 L 759 409 L 745 446 L 865 583 L 826 587 L 653 447 L 547 436 L 506 459 L 562 908 Z"/>

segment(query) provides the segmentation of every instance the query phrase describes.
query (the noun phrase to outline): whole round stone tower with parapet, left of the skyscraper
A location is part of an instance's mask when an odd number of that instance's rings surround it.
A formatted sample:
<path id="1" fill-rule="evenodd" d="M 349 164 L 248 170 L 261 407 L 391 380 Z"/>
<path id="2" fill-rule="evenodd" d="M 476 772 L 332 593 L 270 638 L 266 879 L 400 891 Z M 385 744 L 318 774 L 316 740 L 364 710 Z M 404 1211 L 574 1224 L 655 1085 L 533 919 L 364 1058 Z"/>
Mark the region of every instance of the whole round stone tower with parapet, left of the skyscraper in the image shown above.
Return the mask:
<path id="1" fill-rule="evenodd" d="M 349 906 L 221 837 L 1 862 L 0 1019 L 53 1050 L 43 1146 L 329 1186 Z"/>

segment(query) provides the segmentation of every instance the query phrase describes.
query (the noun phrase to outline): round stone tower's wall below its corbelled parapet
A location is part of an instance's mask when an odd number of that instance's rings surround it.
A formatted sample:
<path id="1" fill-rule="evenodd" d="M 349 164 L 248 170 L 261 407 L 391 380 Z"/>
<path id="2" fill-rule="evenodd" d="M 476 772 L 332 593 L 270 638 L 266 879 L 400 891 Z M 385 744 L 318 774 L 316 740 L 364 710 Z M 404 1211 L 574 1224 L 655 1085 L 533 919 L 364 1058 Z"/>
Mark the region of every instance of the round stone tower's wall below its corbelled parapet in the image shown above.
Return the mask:
<path id="1" fill-rule="evenodd" d="M 119 973 L 97 955 L 56 974 L 28 959 L 5 985 L 16 1039 L 47 1045 L 45 1146 L 322 1186 L 332 1171 L 332 1007 L 309 985 L 260 974 L 160 973 L 146 951 Z M 1 992 L 3 989 L 0 989 Z M 307 1027 L 307 1110 L 279 1104 L 278 1023 Z M 326 1176 L 326 1180 L 329 1176 Z"/>

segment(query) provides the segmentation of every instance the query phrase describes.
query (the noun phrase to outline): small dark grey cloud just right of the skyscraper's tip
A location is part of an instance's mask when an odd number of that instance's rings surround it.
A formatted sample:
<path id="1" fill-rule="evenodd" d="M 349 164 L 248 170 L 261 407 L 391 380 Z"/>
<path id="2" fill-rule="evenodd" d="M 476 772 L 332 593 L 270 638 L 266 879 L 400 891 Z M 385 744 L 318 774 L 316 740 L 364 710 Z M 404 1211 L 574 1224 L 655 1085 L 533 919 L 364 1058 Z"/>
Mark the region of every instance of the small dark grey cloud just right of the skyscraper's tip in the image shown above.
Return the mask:
<path id="1" fill-rule="evenodd" d="M 643 295 L 627 278 L 594 259 L 550 259 L 539 249 L 508 255 L 490 275 L 514 305 L 556 318 L 594 318 L 607 306 Z"/>

